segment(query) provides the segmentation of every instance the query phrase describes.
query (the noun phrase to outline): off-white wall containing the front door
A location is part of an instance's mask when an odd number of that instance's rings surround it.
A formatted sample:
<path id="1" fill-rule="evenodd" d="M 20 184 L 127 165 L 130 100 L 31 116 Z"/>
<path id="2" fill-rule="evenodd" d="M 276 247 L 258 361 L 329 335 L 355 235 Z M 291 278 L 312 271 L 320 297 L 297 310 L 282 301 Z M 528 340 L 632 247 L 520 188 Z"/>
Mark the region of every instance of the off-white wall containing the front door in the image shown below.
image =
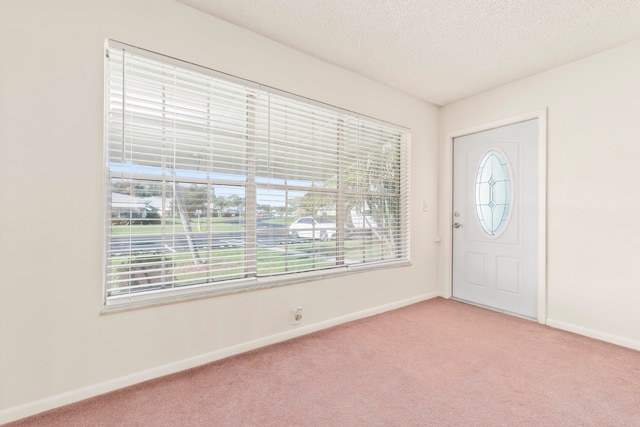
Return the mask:
<path id="1" fill-rule="evenodd" d="M 640 41 L 449 105 L 440 129 L 444 147 L 449 132 L 548 109 L 547 323 L 636 349 L 639 76 Z"/>

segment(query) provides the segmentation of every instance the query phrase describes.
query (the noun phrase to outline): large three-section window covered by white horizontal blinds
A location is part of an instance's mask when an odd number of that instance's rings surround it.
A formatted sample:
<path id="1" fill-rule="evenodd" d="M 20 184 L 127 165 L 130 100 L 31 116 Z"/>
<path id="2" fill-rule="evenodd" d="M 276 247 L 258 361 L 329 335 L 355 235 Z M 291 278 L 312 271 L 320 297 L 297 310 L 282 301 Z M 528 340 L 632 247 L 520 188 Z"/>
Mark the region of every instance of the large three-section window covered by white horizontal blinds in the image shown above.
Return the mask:
<path id="1" fill-rule="evenodd" d="M 109 42 L 107 306 L 409 260 L 409 133 Z"/>

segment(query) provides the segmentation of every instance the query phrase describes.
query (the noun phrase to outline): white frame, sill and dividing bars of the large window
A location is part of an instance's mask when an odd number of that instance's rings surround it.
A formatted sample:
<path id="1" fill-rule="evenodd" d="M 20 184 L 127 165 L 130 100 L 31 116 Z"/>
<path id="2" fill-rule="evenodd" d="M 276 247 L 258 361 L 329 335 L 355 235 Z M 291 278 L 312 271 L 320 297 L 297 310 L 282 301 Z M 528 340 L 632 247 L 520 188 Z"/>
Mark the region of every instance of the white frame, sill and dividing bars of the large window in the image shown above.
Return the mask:
<path id="1" fill-rule="evenodd" d="M 394 225 L 394 230 L 397 228 L 396 233 L 399 237 L 400 243 L 398 244 L 398 251 L 400 256 L 397 256 L 395 259 L 382 259 L 379 261 L 363 261 L 362 263 L 352 263 L 347 264 L 344 262 L 344 258 L 340 261 L 338 258 L 339 255 L 336 256 L 336 265 L 331 266 L 329 268 L 319 268 L 305 271 L 294 271 L 294 272 L 285 272 L 279 274 L 270 274 L 270 275 L 259 275 L 257 271 L 257 241 L 256 241 L 256 221 L 257 221 L 257 191 L 259 188 L 267 187 L 267 185 L 258 183 L 256 180 L 256 154 L 255 154 L 255 140 L 253 142 L 253 148 L 247 148 L 247 150 L 254 150 L 254 153 L 247 154 L 249 157 L 254 156 L 248 160 L 248 163 L 253 164 L 253 166 L 248 166 L 247 178 L 244 182 L 237 181 L 225 181 L 225 180 L 201 180 L 197 178 L 180 178 L 180 182 L 191 183 L 191 184 L 205 184 L 209 187 L 214 185 L 233 185 L 244 187 L 245 189 L 245 215 L 246 215 L 246 226 L 244 228 L 244 239 L 245 239 L 245 258 L 244 258 L 244 268 L 245 272 L 248 272 L 248 277 L 239 278 L 239 279 L 231 279 L 219 282 L 207 282 L 198 285 L 186 285 L 184 287 L 172 287 L 170 289 L 162 289 L 162 290 L 148 290 L 141 292 L 129 292 L 123 295 L 109 295 L 109 292 L 113 290 L 112 287 L 109 286 L 108 282 L 108 274 L 109 274 L 109 265 L 110 265 L 110 254 L 109 249 L 111 247 L 112 242 L 112 179 L 114 179 L 113 172 L 111 170 L 110 165 L 110 154 L 109 154 L 109 146 L 110 146 L 110 132 L 109 132 L 109 114 L 110 114 L 110 94 L 109 84 L 110 84 L 110 71 L 109 71 L 109 52 L 112 50 L 123 50 L 128 53 L 132 53 L 136 56 L 141 56 L 145 58 L 149 58 L 151 60 L 160 61 L 164 64 L 168 64 L 180 69 L 186 69 L 195 71 L 197 73 L 203 73 L 210 76 L 213 79 L 221 79 L 226 82 L 231 82 L 235 84 L 240 84 L 244 87 L 254 89 L 256 91 L 264 92 L 267 94 L 273 94 L 277 97 L 282 97 L 284 99 L 290 99 L 292 102 L 302 103 L 308 106 L 309 108 L 319 108 L 322 111 L 330 111 L 335 112 L 336 117 L 348 117 L 357 121 L 357 123 L 365 123 L 370 124 L 372 126 L 384 126 L 385 129 L 389 129 L 390 131 L 397 132 L 400 138 L 398 143 L 398 162 L 399 162 L 399 174 L 398 177 L 398 196 L 397 196 L 397 204 L 398 204 L 398 215 L 397 220 L 399 221 L 398 225 Z M 202 67 L 199 65 L 191 64 L 188 62 L 181 61 L 176 58 L 171 58 L 159 53 L 151 52 L 145 49 L 137 48 L 134 46 L 130 46 L 128 44 L 120 43 L 114 40 L 106 40 L 105 42 L 105 134 L 104 134 L 104 147 L 105 147 L 105 255 L 104 255 L 104 281 L 103 281 L 103 312 L 112 312 L 112 311 L 120 311 L 127 310 L 137 307 L 146 307 L 151 305 L 159 305 L 166 304 L 175 301 L 182 301 L 187 299 L 195 299 L 202 297 L 210 297 L 214 295 L 226 295 L 231 293 L 250 291 L 255 289 L 263 289 L 274 286 L 287 285 L 291 283 L 302 283 L 311 280 L 319 280 L 327 277 L 336 277 L 339 275 L 351 274 L 358 271 L 369 271 L 372 269 L 380 269 L 380 268 L 394 268 L 399 266 L 406 266 L 410 264 L 410 217 L 409 217 L 409 204 L 410 204 L 410 187 L 409 187 L 409 177 L 410 177 L 410 141 L 411 141 L 411 133 L 407 128 L 390 124 L 388 122 L 384 122 L 378 119 L 374 119 L 362 114 L 357 114 L 339 107 L 331 106 L 316 100 L 311 100 L 308 98 L 304 98 L 298 95 L 293 95 L 288 92 L 281 91 L 279 89 L 275 89 L 269 86 L 261 85 L 255 82 L 247 81 L 235 76 L 230 76 L 229 74 L 222 73 L 216 70 L 212 70 L 206 67 Z M 123 67 L 124 68 L 124 67 Z M 124 71 L 123 71 L 123 85 L 124 85 Z M 162 95 L 164 97 L 164 95 Z M 163 98 L 164 99 L 164 98 Z M 125 101 L 123 98 L 123 109 L 124 109 Z M 123 115 L 123 128 L 126 126 L 124 124 L 124 112 Z M 249 120 L 249 119 L 247 119 Z M 338 122 L 340 119 L 336 119 Z M 249 125 L 247 125 L 249 126 Z M 342 124 L 344 131 L 344 124 Z M 338 124 L 338 128 L 340 128 L 340 124 Z M 248 131 L 249 132 L 249 131 Z M 358 130 L 359 132 L 359 130 Z M 248 138 L 250 139 L 250 138 Z M 254 135 L 254 139 L 257 137 Z M 340 140 L 341 138 L 338 138 Z M 124 144 L 124 140 L 123 140 Z M 249 143 L 251 144 L 251 142 Z M 342 142 L 337 141 L 338 144 L 338 183 L 337 188 L 335 189 L 327 189 L 327 188 L 315 188 L 314 191 L 319 193 L 325 193 L 328 195 L 335 195 L 336 206 L 342 206 L 347 197 L 359 197 L 361 193 L 356 190 L 350 190 L 345 187 L 345 184 L 342 182 L 344 179 L 344 166 L 343 160 L 345 156 L 345 148 L 344 145 L 340 146 Z M 253 170 L 252 170 L 253 168 Z M 131 173 L 129 175 L 132 182 L 135 180 L 144 180 L 148 178 L 148 175 L 145 174 L 137 174 Z M 136 181 L 137 182 L 137 181 Z M 177 182 L 177 181 L 176 181 Z M 175 182 L 174 182 L 175 184 Z M 295 189 L 295 185 L 291 186 L 288 184 L 278 185 L 278 184 L 270 184 L 269 188 L 293 188 Z M 310 190 L 310 188 L 301 187 L 300 190 Z M 382 193 L 381 193 L 382 194 Z M 164 198 L 163 194 L 163 198 Z M 364 211 L 366 208 L 365 205 L 362 207 L 362 215 L 364 217 Z M 339 209 L 336 209 L 338 212 Z M 338 218 L 341 214 L 337 214 Z M 346 214 L 344 214 L 346 215 Z M 344 218 L 338 220 L 339 226 L 336 229 L 336 247 L 337 253 L 342 253 L 344 241 L 345 241 L 345 231 L 344 231 Z M 129 252 L 131 253 L 131 247 L 129 248 Z M 247 255 L 248 254 L 248 255 Z M 341 255 L 344 257 L 344 255 Z M 248 269 L 247 269 L 248 266 Z"/>

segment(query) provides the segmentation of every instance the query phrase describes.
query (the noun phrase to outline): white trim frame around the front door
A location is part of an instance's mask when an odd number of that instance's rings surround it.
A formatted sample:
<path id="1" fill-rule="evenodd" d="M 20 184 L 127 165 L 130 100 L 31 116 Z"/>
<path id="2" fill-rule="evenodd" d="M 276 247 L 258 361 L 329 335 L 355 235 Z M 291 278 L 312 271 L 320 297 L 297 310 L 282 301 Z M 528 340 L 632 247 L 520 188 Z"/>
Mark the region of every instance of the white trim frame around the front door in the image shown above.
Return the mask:
<path id="1" fill-rule="evenodd" d="M 441 187 L 443 297 L 453 294 L 453 140 L 472 133 L 483 132 L 527 120 L 538 120 L 538 323 L 547 321 L 547 109 L 534 110 L 489 123 L 449 132 L 445 136 L 444 163 Z"/>

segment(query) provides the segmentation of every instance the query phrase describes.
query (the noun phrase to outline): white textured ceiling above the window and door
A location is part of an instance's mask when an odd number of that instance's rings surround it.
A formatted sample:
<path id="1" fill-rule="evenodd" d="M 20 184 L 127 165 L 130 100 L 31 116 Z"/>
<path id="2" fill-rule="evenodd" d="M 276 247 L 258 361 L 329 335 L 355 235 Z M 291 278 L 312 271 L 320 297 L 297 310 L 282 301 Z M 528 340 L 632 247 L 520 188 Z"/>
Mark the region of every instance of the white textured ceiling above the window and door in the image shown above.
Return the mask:
<path id="1" fill-rule="evenodd" d="M 178 0 L 438 105 L 640 39 L 640 0 Z"/>

